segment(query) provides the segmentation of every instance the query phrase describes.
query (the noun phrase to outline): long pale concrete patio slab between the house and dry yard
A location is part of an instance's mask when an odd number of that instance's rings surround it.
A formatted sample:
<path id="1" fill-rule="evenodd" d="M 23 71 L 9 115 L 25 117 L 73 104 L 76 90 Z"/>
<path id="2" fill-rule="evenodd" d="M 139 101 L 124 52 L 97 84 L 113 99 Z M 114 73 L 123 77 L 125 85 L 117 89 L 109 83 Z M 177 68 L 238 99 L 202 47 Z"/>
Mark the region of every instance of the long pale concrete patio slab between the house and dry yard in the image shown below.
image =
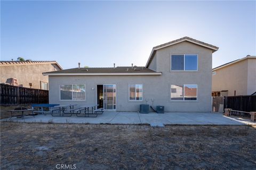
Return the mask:
<path id="1" fill-rule="evenodd" d="M 38 123 L 92 123 L 92 124 L 150 124 L 163 126 L 170 124 L 182 125 L 245 125 L 255 124 L 243 118 L 226 117 L 218 113 L 164 113 L 140 114 L 137 112 L 105 111 L 98 117 L 53 117 L 47 115 L 25 116 L 22 118 L 5 118 L 2 121 L 38 122 Z"/>

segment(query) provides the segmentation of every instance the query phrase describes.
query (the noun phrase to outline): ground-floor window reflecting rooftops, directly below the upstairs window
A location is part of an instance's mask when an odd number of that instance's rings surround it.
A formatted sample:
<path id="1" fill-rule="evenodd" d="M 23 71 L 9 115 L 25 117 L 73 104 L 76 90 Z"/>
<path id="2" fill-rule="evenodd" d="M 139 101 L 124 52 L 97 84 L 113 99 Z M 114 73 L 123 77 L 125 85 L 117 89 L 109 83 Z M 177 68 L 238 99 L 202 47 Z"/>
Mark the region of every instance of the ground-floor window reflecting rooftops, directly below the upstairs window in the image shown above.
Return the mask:
<path id="1" fill-rule="evenodd" d="M 197 84 L 171 85 L 171 100 L 197 100 Z"/>

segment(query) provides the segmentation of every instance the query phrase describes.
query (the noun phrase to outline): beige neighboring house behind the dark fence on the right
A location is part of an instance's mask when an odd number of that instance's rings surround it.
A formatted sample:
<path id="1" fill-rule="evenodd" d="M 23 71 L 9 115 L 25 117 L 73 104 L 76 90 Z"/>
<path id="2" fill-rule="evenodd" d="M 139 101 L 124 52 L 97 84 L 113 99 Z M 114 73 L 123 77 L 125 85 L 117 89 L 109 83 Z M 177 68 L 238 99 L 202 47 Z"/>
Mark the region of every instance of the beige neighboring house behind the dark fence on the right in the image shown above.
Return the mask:
<path id="1" fill-rule="evenodd" d="M 253 95 L 256 92 L 256 56 L 212 69 L 212 96 Z"/>

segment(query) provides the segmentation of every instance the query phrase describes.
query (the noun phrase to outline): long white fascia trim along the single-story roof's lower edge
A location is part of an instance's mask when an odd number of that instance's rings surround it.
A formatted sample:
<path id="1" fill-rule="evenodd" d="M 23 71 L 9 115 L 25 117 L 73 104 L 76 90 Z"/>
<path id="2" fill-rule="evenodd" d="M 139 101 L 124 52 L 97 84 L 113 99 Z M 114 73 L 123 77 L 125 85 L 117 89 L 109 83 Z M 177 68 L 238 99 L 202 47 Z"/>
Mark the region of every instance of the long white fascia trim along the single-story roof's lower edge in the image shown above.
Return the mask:
<path id="1" fill-rule="evenodd" d="M 162 72 L 156 72 L 156 73 L 43 73 L 43 75 L 162 75 Z"/>

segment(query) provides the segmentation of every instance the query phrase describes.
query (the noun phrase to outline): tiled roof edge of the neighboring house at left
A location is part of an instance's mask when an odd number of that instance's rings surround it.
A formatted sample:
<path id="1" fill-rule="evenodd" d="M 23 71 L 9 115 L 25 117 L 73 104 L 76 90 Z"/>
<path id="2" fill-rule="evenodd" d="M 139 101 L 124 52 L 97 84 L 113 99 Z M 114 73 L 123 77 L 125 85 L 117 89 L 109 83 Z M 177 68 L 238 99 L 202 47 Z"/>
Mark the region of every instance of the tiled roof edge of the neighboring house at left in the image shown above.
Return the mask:
<path id="1" fill-rule="evenodd" d="M 0 66 L 10 66 L 10 65 L 27 65 L 27 64 L 56 64 L 61 70 L 61 66 L 56 61 L 0 61 Z"/>

